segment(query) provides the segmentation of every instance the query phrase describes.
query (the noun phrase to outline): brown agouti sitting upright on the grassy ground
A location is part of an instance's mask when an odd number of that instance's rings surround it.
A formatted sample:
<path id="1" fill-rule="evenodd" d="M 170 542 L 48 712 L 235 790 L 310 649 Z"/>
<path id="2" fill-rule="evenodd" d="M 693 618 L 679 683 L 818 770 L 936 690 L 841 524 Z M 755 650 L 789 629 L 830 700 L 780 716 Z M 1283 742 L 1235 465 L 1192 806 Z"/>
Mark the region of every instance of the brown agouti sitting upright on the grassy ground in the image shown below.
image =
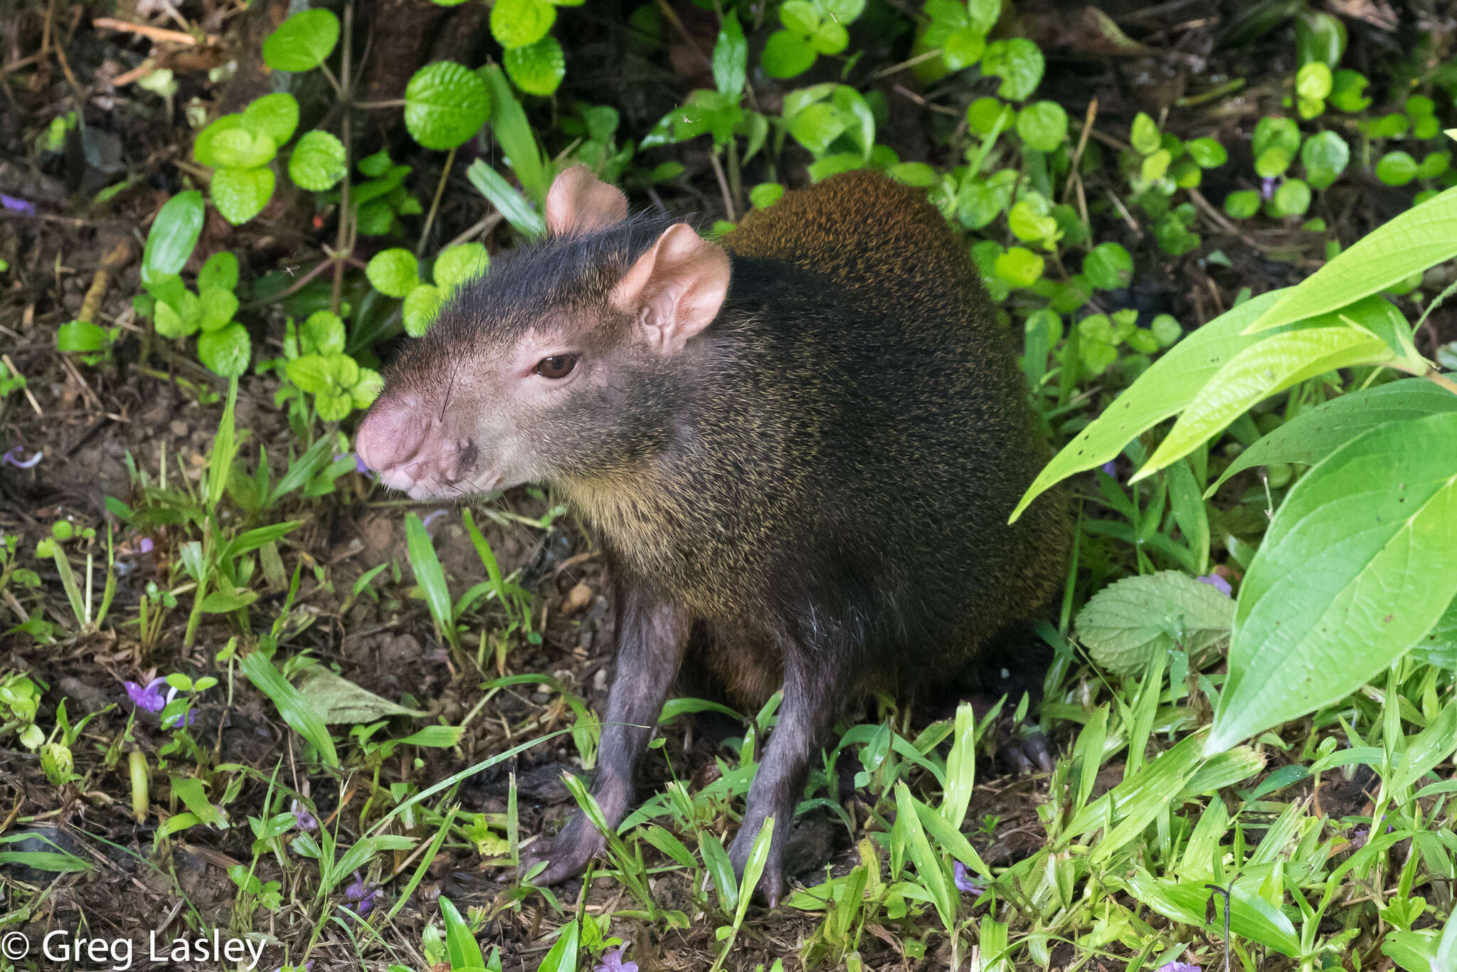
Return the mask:
<path id="1" fill-rule="evenodd" d="M 389 370 L 360 456 L 414 497 L 541 482 L 594 530 L 616 673 L 593 794 L 610 825 L 675 676 L 745 711 L 784 689 L 730 857 L 775 826 L 844 705 L 946 681 L 1061 589 L 1064 498 L 1007 517 L 1037 446 L 965 242 L 915 188 L 836 175 L 721 243 L 628 217 L 587 169 L 548 239 L 465 286 Z M 577 813 L 538 857 L 580 873 Z"/>

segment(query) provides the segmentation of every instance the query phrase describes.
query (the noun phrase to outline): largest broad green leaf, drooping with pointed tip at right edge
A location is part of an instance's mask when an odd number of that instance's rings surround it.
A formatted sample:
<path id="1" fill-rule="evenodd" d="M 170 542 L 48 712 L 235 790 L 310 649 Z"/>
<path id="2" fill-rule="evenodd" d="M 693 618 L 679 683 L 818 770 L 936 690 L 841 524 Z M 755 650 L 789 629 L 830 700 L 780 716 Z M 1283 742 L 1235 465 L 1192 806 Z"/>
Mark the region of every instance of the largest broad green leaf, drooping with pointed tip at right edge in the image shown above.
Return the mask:
<path id="1" fill-rule="evenodd" d="M 1206 752 L 1345 698 L 1454 595 L 1457 412 L 1368 430 L 1297 482 L 1266 530 Z"/>

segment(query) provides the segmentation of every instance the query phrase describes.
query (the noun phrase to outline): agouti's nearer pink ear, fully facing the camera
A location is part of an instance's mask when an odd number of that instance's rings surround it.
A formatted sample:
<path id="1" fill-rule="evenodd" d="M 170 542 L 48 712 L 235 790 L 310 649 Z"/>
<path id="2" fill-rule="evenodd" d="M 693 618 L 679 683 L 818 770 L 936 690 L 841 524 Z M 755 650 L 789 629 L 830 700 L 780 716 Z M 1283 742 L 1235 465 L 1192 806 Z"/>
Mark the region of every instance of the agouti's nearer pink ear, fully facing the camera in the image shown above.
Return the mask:
<path id="1" fill-rule="evenodd" d="M 672 354 L 707 328 L 728 293 L 728 254 L 688 223 L 669 226 L 612 290 L 653 350 Z"/>

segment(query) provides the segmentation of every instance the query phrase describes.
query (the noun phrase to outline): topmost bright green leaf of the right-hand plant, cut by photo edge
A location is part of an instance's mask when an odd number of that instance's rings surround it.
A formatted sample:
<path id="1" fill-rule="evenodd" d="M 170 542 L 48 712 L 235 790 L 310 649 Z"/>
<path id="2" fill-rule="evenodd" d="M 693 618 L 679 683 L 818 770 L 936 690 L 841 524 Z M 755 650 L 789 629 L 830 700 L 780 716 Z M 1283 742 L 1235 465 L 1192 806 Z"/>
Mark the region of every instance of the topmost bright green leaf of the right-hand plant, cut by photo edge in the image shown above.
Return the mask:
<path id="1" fill-rule="evenodd" d="M 1250 334 L 1336 310 L 1457 256 L 1457 188 L 1413 205 L 1284 291 Z"/>

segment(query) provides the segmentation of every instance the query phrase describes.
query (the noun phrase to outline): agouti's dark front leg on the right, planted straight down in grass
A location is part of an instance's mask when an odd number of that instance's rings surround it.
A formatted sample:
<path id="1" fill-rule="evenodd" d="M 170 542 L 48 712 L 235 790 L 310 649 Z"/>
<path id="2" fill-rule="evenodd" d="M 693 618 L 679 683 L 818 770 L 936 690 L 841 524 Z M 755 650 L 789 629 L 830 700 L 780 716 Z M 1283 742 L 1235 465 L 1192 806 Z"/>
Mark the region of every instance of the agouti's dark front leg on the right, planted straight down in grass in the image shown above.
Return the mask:
<path id="1" fill-rule="evenodd" d="M 778 908 L 784 896 L 784 847 L 794 823 L 794 807 L 804 793 L 810 759 L 823 746 L 825 733 L 838 711 L 836 688 L 842 686 L 839 670 L 829 663 L 832 657 L 832 653 L 813 657 L 807 651 L 785 654 L 779 721 L 769 734 L 769 745 L 749 787 L 743 823 L 728 848 L 734 873 L 742 877 L 763 822 L 774 818 L 769 857 L 759 879 L 769 908 Z"/>

